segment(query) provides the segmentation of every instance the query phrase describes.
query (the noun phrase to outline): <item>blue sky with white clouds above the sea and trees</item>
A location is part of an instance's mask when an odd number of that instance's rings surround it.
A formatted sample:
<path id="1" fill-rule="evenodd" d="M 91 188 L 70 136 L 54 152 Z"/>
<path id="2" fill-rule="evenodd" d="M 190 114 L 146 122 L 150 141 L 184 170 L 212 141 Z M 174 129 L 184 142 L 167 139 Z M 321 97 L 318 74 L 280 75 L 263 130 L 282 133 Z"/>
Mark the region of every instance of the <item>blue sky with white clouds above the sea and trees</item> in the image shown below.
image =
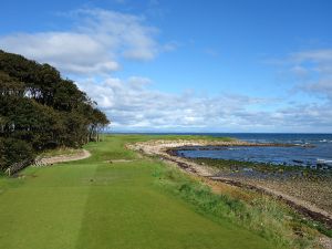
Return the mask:
<path id="1" fill-rule="evenodd" d="M 332 133 L 330 0 L 3 1 L 0 49 L 55 66 L 113 132 Z"/>

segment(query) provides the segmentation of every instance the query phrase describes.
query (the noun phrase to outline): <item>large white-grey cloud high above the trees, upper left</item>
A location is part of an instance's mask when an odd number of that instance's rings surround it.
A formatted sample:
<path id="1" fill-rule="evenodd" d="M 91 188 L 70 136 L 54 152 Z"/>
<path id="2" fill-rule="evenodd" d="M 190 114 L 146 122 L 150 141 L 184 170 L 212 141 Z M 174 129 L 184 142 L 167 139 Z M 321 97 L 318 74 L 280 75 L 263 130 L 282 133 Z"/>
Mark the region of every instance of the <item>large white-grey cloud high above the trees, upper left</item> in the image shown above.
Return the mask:
<path id="1" fill-rule="evenodd" d="M 75 22 L 71 31 L 9 34 L 0 37 L 0 48 L 80 75 L 111 73 L 122 58 L 152 60 L 162 50 L 157 29 L 142 17 L 81 9 L 66 18 Z"/>

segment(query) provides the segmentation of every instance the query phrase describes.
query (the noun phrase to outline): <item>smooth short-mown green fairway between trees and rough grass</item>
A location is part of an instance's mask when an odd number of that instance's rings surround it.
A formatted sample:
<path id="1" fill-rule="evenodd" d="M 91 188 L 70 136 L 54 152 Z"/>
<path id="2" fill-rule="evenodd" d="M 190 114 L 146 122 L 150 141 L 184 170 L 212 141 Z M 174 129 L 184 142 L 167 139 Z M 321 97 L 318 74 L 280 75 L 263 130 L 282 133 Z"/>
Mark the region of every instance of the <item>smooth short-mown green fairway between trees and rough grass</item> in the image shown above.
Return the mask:
<path id="1" fill-rule="evenodd" d="M 163 190 L 154 172 L 165 166 L 124 148 L 148 138 L 108 136 L 86 146 L 87 159 L 0 178 L 0 248 L 273 248 Z"/>

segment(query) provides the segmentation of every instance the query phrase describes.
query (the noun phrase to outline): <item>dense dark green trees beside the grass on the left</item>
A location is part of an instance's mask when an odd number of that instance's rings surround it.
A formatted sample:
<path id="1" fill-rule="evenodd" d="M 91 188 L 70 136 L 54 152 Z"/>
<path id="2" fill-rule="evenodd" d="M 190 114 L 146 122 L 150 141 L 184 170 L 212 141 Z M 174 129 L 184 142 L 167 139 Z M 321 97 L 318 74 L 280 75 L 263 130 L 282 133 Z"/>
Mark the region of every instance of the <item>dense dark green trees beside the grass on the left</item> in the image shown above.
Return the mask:
<path id="1" fill-rule="evenodd" d="M 108 123 L 56 69 L 0 50 L 0 172 L 44 149 L 81 147 Z"/>

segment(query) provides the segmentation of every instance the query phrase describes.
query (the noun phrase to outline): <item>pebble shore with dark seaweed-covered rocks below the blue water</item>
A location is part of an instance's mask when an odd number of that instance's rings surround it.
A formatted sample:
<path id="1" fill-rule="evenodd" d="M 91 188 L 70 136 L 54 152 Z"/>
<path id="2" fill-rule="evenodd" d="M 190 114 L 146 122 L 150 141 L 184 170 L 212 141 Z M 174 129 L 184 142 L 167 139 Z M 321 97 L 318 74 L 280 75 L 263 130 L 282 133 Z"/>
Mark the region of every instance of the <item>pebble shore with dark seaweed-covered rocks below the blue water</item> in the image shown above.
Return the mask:
<path id="1" fill-rule="evenodd" d="M 187 159 L 212 168 L 216 177 L 267 187 L 314 204 L 330 214 L 332 211 L 332 172 L 329 169 L 216 158 Z M 329 227 L 331 228 L 331 224 Z M 332 235 L 332 231 L 329 230 L 328 234 Z"/>

